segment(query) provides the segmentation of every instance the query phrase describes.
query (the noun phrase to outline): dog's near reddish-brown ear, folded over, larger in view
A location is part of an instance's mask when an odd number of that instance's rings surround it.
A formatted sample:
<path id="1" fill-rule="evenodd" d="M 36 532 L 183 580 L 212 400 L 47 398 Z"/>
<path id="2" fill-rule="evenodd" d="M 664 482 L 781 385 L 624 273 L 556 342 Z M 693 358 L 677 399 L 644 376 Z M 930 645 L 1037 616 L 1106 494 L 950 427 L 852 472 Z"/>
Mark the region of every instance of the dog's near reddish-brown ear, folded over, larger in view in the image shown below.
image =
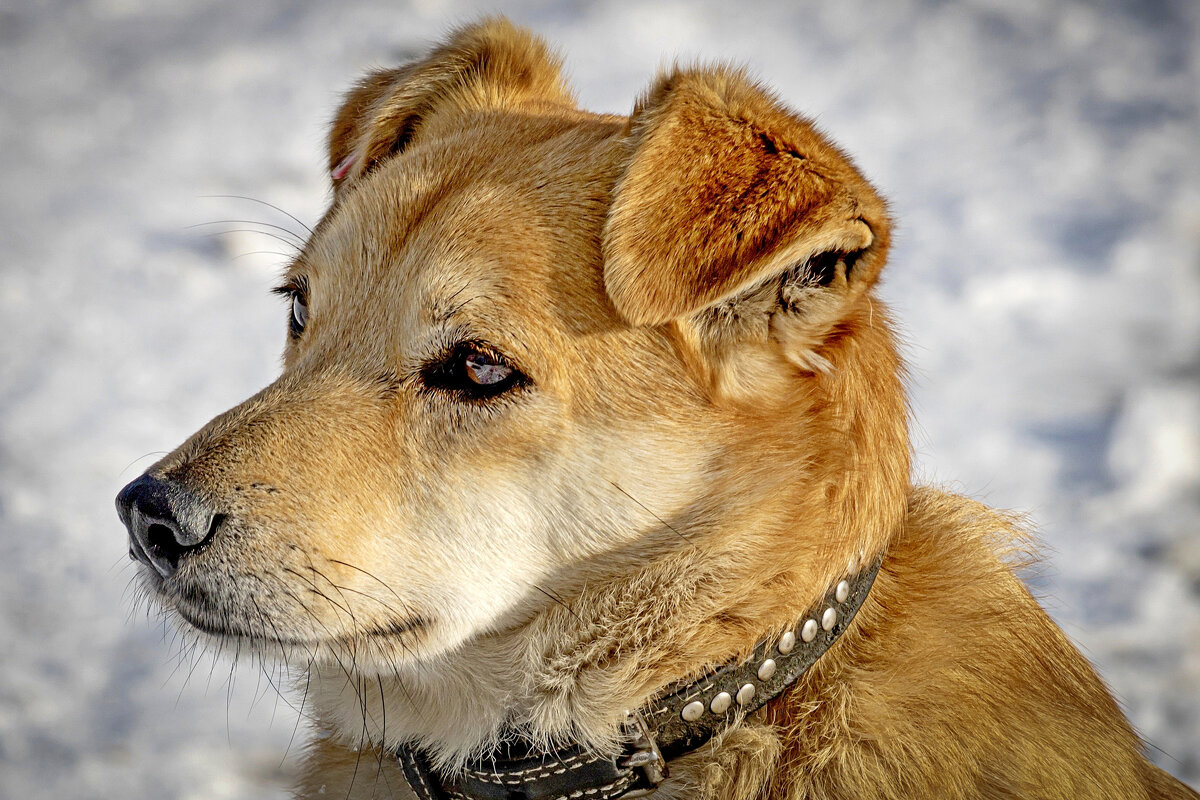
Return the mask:
<path id="1" fill-rule="evenodd" d="M 886 258 L 887 210 L 866 180 L 730 67 L 660 77 L 626 139 L 602 243 L 618 312 L 635 325 L 708 320 L 726 341 L 757 327 L 811 366 L 805 351 Z"/>

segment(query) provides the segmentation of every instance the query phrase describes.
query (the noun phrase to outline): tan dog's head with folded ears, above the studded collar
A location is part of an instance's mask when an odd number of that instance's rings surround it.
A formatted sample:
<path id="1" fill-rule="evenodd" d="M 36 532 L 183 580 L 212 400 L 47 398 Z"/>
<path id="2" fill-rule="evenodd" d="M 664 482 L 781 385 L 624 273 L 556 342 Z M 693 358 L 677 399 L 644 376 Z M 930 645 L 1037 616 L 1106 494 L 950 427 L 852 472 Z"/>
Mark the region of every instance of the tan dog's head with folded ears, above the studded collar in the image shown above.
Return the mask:
<path id="1" fill-rule="evenodd" d="M 488 22 L 364 79 L 329 167 L 282 374 L 118 501 L 192 626 L 391 672 L 684 558 L 792 607 L 899 518 L 884 205 L 742 72 L 596 115 Z"/>

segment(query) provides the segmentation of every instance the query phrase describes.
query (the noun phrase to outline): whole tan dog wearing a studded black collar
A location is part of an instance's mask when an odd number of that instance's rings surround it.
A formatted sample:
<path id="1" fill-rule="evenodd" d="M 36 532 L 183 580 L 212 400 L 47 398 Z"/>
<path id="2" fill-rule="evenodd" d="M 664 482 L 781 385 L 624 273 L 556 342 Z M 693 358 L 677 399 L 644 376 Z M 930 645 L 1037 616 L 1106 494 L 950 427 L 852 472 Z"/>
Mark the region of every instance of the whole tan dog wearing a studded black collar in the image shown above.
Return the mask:
<path id="1" fill-rule="evenodd" d="M 577 108 L 504 19 L 368 74 L 280 378 L 127 487 L 152 594 L 306 675 L 296 796 L 1198 798 L 913 486 L 890 221 L 727 66 Z"/>

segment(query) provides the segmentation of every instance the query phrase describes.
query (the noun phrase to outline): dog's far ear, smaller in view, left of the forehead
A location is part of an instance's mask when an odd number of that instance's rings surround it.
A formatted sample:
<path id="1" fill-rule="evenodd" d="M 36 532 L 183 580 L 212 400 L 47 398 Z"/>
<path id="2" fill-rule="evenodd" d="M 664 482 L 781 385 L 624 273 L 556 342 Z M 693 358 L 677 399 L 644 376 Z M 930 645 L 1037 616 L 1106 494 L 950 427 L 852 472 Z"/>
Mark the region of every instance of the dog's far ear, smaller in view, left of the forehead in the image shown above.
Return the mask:
<path id="1" fill-rule="evenodd" d="M 434 113 L 529 101 L 575 104 L 546 43 L 503 18 L 460 28 L 424 60 L 372 72 L 347 94 L 329 134 L 334 188 L 403 151 Z"/>

